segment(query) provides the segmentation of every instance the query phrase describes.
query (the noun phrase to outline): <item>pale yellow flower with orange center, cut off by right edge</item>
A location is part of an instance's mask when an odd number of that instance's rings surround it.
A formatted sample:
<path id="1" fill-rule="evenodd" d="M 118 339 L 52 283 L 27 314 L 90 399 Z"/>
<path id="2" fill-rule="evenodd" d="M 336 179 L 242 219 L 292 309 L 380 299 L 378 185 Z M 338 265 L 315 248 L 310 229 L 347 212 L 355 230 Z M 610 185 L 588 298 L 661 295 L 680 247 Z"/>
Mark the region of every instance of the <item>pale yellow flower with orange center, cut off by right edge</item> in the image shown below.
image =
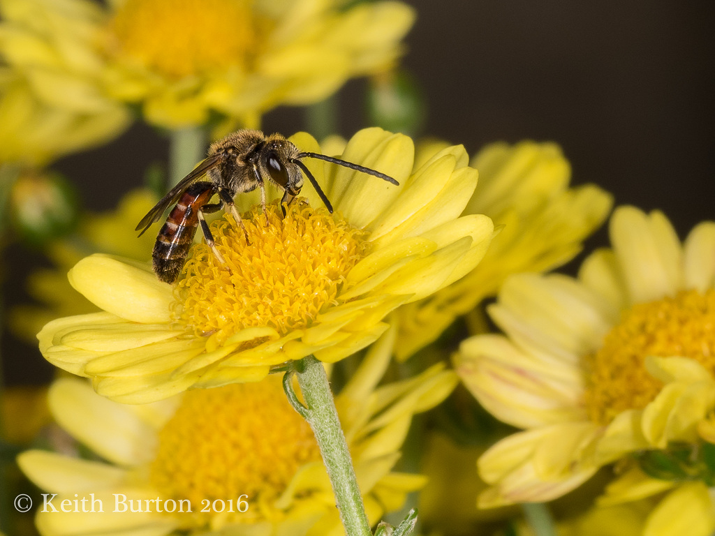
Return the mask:
<path id="1" fill-rule="evenodd" d="M 492 486 L 480 505 L 551 500 L 632 452 L 702 444 L 715 407 L 715 224 L 681 244 L 660 212 L 621 207 L 610 230 L 613 249 L 591 254 L 578 279 L 507 279 L 488 309 L 506 335 L 460 347 L 465 385 L 526 429 L 480 458 Z"/>

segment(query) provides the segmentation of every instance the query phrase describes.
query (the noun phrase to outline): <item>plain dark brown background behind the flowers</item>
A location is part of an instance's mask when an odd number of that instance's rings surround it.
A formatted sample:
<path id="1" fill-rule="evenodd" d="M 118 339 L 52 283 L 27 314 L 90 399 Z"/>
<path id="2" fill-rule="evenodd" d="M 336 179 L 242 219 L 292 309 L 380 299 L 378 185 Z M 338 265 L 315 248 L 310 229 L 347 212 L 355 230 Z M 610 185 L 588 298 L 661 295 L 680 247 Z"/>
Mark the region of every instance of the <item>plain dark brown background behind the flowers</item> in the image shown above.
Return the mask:
<path id="1" fill-rule="evenodd" d="M 573 183 L 596 182 L 616 204 L 662 209 L 681 237 L 715 219 L 714 4 L 696 1 L 407 2 L 418 21 L 403 66 L 428 103 L 424 134 L 464 144 L 520 139 L 561 144 Z M 365 81 L 338 96 L 339 131 L 367 126 Z M 302 111 L 278 109 L 266 131 L 305 129 Z M 168 144 L 134 126 L 113 144 L 54 166 L 90 209 L 111 209 L 142 184 Z M 587 248 L 606 244 L 604 231 Z M 24 299 L 21 278 L 38 256 L 11 247 L 7 302 Z M 9 272 L 8 272 L 9 271 Z M 42 360 L 4 334 L 9 383 L 39 382 Z M 48 368 L 45 371 L 49 370 Z"/>

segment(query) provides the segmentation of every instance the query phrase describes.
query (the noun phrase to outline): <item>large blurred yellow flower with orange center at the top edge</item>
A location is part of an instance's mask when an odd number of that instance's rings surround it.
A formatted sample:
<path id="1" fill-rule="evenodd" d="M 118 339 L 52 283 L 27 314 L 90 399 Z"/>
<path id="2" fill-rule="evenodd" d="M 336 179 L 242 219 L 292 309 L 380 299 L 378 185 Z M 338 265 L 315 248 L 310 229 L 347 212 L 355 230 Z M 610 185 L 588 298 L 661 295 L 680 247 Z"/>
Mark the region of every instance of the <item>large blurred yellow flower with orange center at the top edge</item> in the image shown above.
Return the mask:
<path id="1" fill-rule="evenodd" d="M 0 50 L 46 94 L 142 104 L 149 122 L 243 121 L 389 68 L 413 10 L 397 1 L 4 0 Z M 57 104 L 62 107 L 60 102 Z"/>

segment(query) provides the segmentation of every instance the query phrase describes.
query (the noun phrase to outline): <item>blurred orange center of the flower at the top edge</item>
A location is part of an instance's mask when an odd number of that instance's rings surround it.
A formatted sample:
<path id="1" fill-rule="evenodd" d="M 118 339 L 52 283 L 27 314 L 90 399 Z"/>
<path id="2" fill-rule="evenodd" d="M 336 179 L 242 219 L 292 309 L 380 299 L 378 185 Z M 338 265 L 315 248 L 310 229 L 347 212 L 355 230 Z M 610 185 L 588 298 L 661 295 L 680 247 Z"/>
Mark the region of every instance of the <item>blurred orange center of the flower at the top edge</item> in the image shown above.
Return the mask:
<path id="1" fill-rule="evenodd" d="M 244 64 L 255 42 L 248 0 L 126 0 L 117 53 L 173 78 Z"/>

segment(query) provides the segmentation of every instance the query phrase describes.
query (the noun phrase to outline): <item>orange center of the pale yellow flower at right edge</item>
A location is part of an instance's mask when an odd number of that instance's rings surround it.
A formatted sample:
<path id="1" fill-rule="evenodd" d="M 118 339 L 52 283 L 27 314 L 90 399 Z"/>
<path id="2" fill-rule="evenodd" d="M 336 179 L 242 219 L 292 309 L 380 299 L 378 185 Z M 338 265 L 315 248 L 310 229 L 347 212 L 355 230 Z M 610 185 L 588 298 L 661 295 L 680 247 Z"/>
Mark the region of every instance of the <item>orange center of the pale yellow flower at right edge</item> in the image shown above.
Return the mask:
<path id="1" fill-rule="evenodd" d="M 715 291 L 683 291 L 623 314 L 590 359 L 586 409 L 593 422 L 606 425 L 653 401 L 663 383 L 646 371 L 649 355 L 690 357 L 715 373 Z"/>

